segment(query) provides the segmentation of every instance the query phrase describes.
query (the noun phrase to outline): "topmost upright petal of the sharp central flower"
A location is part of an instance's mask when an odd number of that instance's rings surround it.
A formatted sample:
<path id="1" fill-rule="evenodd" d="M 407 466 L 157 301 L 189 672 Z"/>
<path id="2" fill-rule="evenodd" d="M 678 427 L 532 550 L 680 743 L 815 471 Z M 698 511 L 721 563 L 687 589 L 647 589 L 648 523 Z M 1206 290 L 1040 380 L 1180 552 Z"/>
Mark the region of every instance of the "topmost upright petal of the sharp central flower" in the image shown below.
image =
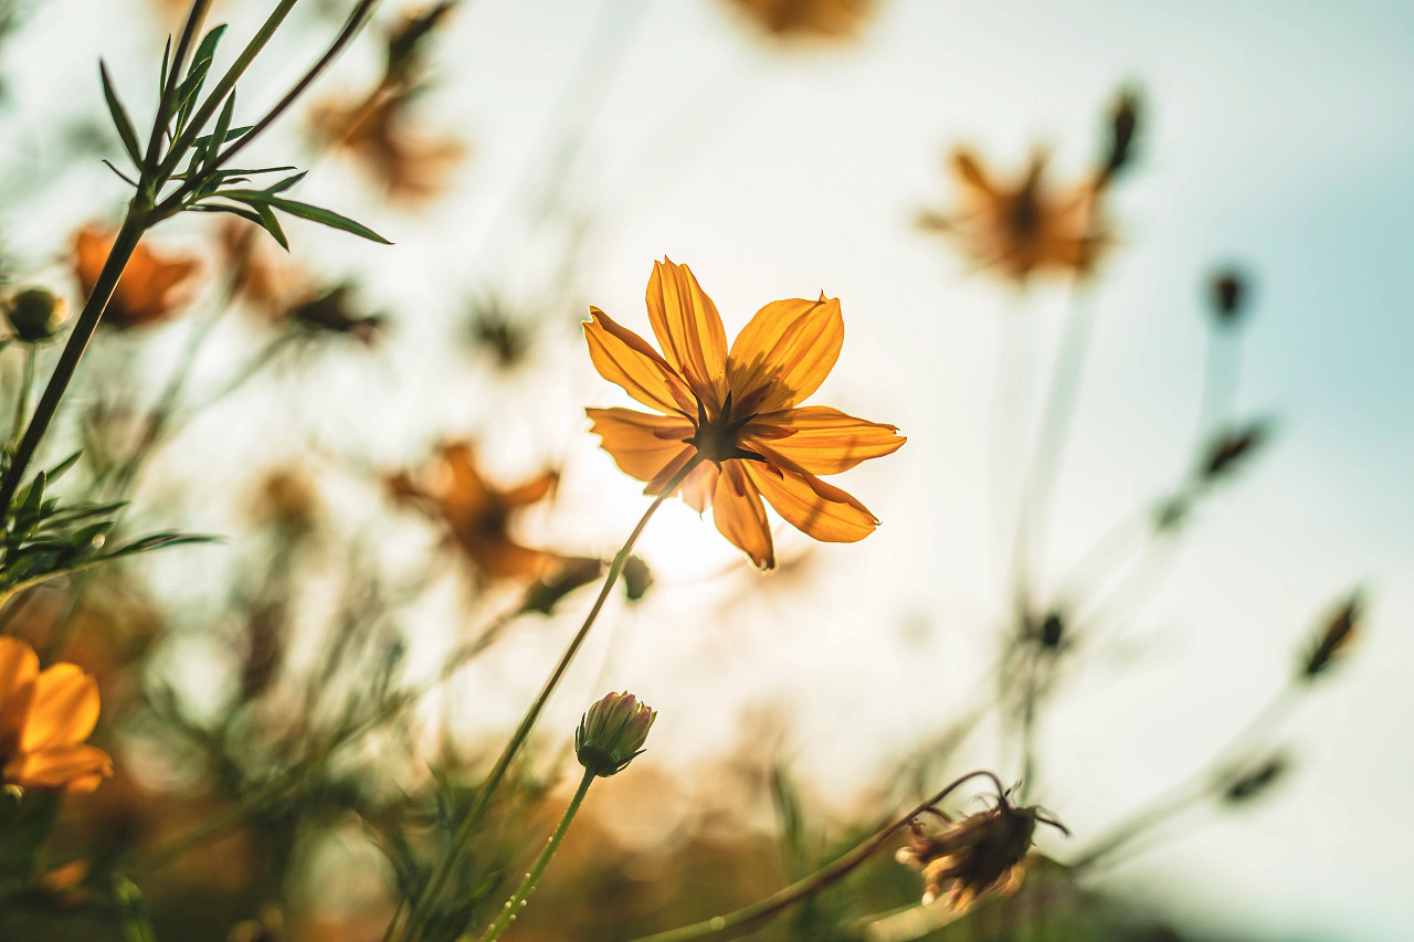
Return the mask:
<path id="1" fill-rule="evenodd" d="M 727 331 L 721 315 L 686 264 L 653 263 L 648 280 L 648 320 L 673 369 L 708 410 L 727 395 Z"/>

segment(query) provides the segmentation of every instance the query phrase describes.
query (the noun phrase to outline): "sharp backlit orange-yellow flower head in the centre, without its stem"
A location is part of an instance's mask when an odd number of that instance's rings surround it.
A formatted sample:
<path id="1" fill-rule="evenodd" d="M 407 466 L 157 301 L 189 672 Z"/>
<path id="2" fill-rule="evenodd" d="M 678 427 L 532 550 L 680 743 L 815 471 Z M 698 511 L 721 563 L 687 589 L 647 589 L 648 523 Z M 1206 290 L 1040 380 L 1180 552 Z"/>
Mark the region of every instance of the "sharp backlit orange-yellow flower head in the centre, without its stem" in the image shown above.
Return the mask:
<path id="1" fill-rule="evenodd" d="M 868 508 L 816 475 L 839 474 L 896 451 L 894 426 L 827 406 L 797 406 L 834 366 L 844 342 L 840 301 L 766 304 L 731 349 L 721 317 L 686 264 L 653 263 L 648 318 L 663 352 L 590 308 L 584 322 L 600 375 L 660 416 L 588 409 L 594 433 L 619 468 L 660 494 L 689 461 L 679 488 L 751 560 L 776 563 L 762 498 L 817 540 L 853 543 L 874 532 Z"/>

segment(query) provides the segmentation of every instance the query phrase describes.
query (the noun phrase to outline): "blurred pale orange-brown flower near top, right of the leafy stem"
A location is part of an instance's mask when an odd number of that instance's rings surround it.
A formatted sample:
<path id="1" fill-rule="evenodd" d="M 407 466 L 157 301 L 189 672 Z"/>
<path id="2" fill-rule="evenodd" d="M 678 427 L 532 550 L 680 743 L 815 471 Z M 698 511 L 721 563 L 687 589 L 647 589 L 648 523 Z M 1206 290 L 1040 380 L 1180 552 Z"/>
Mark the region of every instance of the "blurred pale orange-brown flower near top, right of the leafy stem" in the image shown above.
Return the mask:
<path id="1" fill-rule="evenodd" d="M 409 88 L 382 85 L 366 99 L 318 105 L 311 120 L 320 140 L 349 151 L 389 197 L 424 202 L 445 188 L 467 149 L 458 140 L 411 130 L 411 98 Z"/>

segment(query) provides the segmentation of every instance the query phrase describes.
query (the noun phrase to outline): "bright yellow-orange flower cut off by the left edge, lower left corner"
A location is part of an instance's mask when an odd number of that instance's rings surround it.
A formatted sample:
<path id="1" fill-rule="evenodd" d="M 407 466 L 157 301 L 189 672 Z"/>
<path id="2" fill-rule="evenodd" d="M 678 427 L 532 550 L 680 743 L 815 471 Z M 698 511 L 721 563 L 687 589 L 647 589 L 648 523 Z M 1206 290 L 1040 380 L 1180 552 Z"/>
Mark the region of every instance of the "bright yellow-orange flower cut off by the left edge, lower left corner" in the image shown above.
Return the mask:
<path id="1" fill-rule="evenodd" d="M 0 782 L 92 792 L 113 761 L 83 740 L 98 723 L 98 683 L 76 665 L 40 670 L 34 649 L 0 636 Z"/>

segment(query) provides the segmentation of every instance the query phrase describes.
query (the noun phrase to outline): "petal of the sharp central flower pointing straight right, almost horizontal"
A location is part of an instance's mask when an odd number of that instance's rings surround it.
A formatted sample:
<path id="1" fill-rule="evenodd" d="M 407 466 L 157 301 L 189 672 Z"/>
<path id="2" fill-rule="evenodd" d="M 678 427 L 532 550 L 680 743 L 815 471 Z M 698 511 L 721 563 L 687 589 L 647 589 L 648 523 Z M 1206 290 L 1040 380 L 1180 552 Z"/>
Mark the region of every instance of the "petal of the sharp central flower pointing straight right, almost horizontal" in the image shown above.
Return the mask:
<path id="1" fill-rule="evenodd" d="M 756 416 L 742 429 L 747 448 L 771 460 L 785 458 L 810 474 L 839 474 L 860 461 L 892 454 L 906 441 L 896 431 L 829 406 Z"/>

